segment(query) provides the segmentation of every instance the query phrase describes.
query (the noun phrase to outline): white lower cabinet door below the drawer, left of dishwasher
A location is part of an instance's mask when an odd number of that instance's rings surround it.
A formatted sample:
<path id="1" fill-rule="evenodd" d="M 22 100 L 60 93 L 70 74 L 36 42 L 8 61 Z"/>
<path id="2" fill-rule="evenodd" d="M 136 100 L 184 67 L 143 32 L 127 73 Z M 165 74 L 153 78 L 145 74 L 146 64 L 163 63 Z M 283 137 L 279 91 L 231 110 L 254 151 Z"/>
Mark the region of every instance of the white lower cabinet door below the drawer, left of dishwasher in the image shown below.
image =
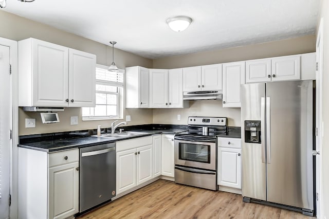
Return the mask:
<path id="1" fill-rule="evenodd" d="M 79 162 L 49 168 L 49 218 L 79 212 Z"/>

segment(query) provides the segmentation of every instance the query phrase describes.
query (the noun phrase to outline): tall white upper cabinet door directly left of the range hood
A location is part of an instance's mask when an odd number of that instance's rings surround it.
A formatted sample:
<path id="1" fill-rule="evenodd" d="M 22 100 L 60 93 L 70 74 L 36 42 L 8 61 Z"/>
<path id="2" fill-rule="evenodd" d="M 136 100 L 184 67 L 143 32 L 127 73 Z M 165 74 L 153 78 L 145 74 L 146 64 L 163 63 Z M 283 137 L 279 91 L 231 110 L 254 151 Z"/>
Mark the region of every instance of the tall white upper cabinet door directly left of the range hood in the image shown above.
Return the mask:
<path id="1" fill-rule="evenodd" d="M 169 107 L 182 108 L 183 104 L 183 69 L 169 70 Z"/>

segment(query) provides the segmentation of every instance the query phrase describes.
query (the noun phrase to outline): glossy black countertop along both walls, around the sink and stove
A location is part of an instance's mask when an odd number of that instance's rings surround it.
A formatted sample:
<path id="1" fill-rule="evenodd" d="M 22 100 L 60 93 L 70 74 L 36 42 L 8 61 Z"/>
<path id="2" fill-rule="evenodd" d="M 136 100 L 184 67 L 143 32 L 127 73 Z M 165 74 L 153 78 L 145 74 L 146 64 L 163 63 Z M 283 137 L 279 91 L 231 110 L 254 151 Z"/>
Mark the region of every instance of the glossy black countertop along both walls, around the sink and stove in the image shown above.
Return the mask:
<path id="1" fill-rule="evenodd" d="M 143 132 L 145 134 L 123 136 L 122 138 L 116 139 L 93 136 L 96 134 L 96 130 L 39 134 L 30 136 L 20 136 L 20 144 L 18 146 L 21 148 L 39 150 L 50 153 L 68 149 L 84 148 L 97 144 L 111 143 L 120 140 L 150 136 L 154 134 L 175 134 L 187 131 L 187 126 L 148 124 L 129 126 L 125 127 L 125 129 L 125 131 Z M 228 135 L 220 137 L 241 138 L 240 130 L 240 127 L 228 127 Z M 102 130 L 102 133 L 107 133 L 108 131 L 109 130 L 105 129 Z"/>

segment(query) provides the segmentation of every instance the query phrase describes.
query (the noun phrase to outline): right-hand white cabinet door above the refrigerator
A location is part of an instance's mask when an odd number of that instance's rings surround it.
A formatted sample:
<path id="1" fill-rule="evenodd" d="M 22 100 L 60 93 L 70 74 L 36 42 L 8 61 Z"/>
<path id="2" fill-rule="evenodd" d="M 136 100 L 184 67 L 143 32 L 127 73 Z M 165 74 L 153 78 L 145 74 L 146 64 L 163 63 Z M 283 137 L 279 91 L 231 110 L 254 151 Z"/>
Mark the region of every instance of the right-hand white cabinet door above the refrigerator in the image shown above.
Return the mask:
<path id="1" fill-rule="evenodd" d="M 272 58 L 272 81 L 300 80 L 300 56 Z"/>

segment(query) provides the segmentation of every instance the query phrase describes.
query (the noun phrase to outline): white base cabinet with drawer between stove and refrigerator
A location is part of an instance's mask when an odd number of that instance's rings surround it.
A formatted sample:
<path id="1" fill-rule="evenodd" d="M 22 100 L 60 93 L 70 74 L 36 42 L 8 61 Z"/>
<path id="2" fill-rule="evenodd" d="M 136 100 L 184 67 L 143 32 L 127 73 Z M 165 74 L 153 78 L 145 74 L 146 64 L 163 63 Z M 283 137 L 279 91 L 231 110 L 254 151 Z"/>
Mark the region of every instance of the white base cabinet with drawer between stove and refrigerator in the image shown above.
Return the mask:
<path id="1" fill-rule="evenodd" d="M 241 139 L 217 138 L 217 184 L 220 190 L 237 192 L 241 189 Z M 225 187 L 222 189 L 221 187 Z"/>

